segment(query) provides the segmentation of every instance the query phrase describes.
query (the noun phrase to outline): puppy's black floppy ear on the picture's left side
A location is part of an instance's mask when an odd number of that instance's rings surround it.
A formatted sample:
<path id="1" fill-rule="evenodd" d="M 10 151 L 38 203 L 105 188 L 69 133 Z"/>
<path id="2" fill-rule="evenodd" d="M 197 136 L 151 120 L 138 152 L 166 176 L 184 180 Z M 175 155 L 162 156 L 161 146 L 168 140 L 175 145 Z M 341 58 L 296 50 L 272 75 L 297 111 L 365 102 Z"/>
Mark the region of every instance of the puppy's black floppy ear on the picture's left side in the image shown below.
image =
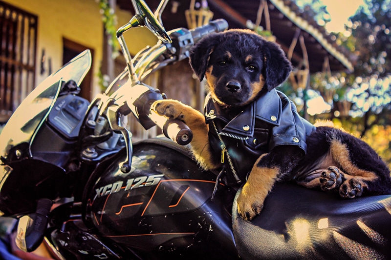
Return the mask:
<path id="1" fill-rule="evenodd" d="M 190 66 L 197 75 L 199 81 L 204 79 L 208 68 L 209 55 L 217 45 L 219 35 L 212 33 L 198 41 L 190 51 Z"/>

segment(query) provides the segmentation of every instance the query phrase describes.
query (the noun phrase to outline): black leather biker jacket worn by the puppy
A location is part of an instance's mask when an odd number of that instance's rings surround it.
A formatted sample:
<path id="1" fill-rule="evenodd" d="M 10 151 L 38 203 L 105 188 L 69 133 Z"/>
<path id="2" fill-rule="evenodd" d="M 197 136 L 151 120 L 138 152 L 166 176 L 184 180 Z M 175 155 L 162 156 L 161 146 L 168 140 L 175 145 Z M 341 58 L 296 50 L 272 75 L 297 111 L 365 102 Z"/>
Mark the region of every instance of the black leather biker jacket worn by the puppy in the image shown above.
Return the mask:
<path id="1" fill-rule="evenodd" d="M 299 116 L 291 100 L 275 89 L 249 104 L 231 121 L 208 96 L 205 119 L 209 141 L 215 154 L 221 154 L 230 186 L 244 182 L 255 161 L 278 145 L 297 145 L 306 153 L 306 136 L 316 129 Z"/>

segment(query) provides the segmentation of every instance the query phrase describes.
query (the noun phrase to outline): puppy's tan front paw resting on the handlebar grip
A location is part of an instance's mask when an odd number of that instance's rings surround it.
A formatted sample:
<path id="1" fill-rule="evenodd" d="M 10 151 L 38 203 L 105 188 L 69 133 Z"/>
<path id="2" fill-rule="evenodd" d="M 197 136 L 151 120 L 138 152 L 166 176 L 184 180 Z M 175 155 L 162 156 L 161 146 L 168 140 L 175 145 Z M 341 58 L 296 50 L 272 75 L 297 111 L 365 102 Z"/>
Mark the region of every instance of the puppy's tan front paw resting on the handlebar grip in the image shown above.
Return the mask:
<path id="1" fill-rule="evenodd" d="M 185 105 L 177 100 L 156 100 L 152 103 L 151 110 L 169 119 L 183 120 Z"/>

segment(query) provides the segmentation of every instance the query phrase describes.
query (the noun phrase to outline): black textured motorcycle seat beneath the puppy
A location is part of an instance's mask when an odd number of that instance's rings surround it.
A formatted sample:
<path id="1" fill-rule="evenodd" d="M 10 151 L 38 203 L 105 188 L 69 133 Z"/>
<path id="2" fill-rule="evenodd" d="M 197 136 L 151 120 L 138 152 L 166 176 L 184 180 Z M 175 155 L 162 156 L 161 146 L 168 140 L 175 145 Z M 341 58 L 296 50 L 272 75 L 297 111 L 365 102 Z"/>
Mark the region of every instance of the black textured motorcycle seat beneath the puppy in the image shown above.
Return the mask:
<path id="1" fill-rule="evenodd" d="M 251 222 L 236 205 L 235 199 L 233 232 L 242 259 L 391 259 L 391 195 L 343 200 L 277 183 Z"/>

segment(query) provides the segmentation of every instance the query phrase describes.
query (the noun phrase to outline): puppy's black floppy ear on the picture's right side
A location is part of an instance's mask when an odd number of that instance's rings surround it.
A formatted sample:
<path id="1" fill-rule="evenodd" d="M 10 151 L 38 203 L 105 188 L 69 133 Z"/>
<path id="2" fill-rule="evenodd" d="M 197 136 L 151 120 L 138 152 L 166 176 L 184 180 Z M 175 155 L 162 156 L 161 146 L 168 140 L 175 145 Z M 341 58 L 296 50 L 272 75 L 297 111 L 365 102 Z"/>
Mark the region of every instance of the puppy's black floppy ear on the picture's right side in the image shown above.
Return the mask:
<path id="1" fill-rule="evenodd" d="M 274 42 L 265 41 L 262 46 L 262 52 L 265 58 L 264 72 L 267 91 L 270 91 L 288 78 L 292 71 L 292 65 L 286 59 L 281 47 Z"/>

